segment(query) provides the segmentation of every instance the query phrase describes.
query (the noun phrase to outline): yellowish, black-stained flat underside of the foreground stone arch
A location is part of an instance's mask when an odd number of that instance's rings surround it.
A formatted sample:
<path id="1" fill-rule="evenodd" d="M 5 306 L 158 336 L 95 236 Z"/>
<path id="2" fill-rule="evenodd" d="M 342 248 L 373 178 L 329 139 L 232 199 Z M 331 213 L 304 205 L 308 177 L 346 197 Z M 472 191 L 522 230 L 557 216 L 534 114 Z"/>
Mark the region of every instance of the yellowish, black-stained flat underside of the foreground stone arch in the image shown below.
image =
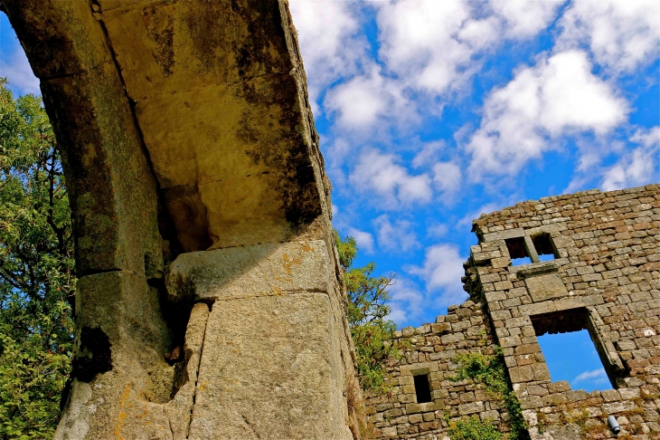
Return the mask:
<path id="1" fill-rule="evenodd" d="M 312 231 L 325 183 L 285 5 L 134 4 L 101 18 L 184 250 Z"/>

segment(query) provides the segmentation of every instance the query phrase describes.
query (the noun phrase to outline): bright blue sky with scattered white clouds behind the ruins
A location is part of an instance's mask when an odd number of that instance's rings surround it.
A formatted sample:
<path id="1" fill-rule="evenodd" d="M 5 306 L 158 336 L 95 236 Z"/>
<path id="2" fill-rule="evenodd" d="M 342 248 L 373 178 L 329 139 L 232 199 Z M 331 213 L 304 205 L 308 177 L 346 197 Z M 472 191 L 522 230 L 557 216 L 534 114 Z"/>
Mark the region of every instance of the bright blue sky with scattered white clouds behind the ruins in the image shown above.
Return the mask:
<path id="1" fill-rule="evenodd" d="M 462 263 L 481 213 L 660 181 L 660 2 L 290 7 L 334 225 L 357 240 L 357 264 L 397 274 L 400 327 L 434 321 L 466 298 Z M 39 93 L 5 15 L 0 75 L 16 93 Z M 584 388 L 598 387 L 588 382 L 602 379 L 599 368 L 598 359 L 560 367 Z M 558 379 L 552 366 L 551 374 Z"/>

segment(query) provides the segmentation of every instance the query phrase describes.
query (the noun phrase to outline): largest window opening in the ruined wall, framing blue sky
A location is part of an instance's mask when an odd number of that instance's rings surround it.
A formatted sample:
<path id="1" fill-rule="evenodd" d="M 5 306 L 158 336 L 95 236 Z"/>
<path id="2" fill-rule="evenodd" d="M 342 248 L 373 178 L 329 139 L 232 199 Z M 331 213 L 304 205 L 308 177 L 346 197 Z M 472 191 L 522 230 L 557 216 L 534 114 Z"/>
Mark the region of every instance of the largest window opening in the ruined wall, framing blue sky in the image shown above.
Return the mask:
<path id="1" fill-rule="evenodd" d="M 587 392 L 609 389 L 613 378 L 606 370 L 585 308 L 530 317 L 553 382 L 566 380 L 572 389 Z"/>

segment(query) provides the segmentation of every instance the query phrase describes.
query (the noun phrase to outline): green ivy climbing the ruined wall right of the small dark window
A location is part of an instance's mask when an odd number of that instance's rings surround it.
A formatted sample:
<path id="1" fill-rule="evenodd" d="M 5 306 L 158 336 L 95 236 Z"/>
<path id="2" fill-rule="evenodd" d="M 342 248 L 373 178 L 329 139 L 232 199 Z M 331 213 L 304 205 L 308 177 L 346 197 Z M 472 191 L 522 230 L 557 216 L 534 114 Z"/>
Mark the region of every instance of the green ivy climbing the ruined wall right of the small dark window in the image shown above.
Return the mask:
<path id="1" fill-rule="evenodd" d="M 458 364 L 458 368 L 456 376 L 451 380 L 459 381 L 469 378 L 475 383 L 483 384 L 491 397 L 500 401 L 504 405 L 506 412 L 509 413 L 509 424 L 511 425 L 511 432 L 507 438 L 509 440 L 529 439 L 527 424 L 523 418 L 523 411 L 520 407 L 520 402 L 518 401 L 518 398 L 515 397 L 511 382 L 506 376 L 503 350 L 500 347 L 495 346 L 495 354 L 493 355 L 467 353 L 457 355 L 452 360 Z M 462 440 L 463 438 L 482 437 L 457 436 L 451 438 L 452 440 Z"/>

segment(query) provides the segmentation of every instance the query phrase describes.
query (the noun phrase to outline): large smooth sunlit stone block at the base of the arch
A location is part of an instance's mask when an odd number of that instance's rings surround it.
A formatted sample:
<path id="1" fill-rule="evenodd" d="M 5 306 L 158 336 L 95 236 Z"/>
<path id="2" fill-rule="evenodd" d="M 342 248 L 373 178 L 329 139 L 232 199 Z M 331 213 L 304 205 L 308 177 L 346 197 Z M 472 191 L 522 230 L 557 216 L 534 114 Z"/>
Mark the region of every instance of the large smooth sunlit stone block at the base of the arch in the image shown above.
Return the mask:
<path id="1" fill-rule="evenodd" d="M 190 438 L 352 438 L 331 320 L 325 293 L 216 301 Z"/>

